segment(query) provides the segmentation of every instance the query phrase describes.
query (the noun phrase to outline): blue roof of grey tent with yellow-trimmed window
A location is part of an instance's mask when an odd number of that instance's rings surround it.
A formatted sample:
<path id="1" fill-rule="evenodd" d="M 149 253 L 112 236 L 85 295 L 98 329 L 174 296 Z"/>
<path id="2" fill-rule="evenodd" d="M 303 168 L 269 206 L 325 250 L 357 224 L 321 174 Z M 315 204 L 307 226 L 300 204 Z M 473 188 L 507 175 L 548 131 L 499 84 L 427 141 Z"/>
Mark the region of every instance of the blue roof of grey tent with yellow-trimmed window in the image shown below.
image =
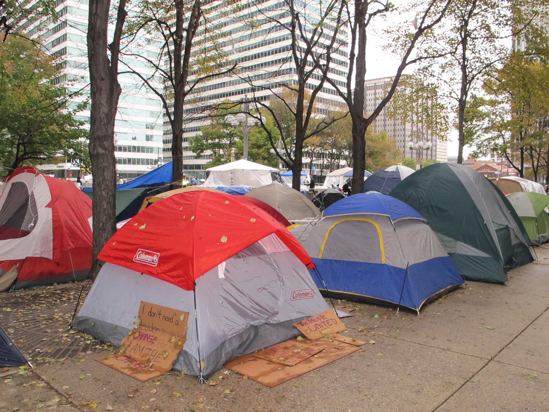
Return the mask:
<path id="1" fill-rule="evenodd" d="M 370 178 L 368 177 L 368 179 Z M 388 215 L 393 221 L 406 218 L 423 219 L 422 215 L 417 213 L 417 211 L 406 203 L 380 193 L 359 193 L 348 196 L 326 208 L 322 216 L 349 215 L 355 213 Z"/>

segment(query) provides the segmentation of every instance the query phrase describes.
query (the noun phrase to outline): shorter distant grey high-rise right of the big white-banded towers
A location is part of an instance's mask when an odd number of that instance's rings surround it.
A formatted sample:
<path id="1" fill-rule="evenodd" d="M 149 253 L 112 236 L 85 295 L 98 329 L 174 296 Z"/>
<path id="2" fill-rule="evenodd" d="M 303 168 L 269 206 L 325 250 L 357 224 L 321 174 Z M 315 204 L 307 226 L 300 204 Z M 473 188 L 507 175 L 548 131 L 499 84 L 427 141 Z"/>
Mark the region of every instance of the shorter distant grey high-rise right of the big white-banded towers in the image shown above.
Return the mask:
<path id="1" fill-rule="evenodd" d="M 379 102 L 385 98 L 387 85 L 393 77 L 366 80 L 364 111 L 371 114 Z M 374 133 L 387 132 L 387 137 L 394 139 L 395 146 L 402 152 L 402 157 L 413 159 L 447 160 L 447 143 L 434 136 L 432 131 L 421 122 L 401 121 L 390 118 L 389 108 L 385 106 L 377 116 L 372 127 Z"/>

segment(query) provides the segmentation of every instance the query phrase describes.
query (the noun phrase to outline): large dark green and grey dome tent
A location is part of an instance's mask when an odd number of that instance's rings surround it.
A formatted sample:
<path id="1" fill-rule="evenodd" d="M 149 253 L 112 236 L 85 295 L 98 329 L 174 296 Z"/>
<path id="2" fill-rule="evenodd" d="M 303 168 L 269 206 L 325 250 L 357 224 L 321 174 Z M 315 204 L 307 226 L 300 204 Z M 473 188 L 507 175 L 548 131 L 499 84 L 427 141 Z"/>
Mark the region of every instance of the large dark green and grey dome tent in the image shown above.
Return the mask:
<path id="1" fill-rule="evenodd" d="M 391 196 L 429 221 L 467 280 L 506 283 L 507 270 L 534 259 L 511 203 L 479 172 L 455 163 L 427 166 L 406 177 Z"/>

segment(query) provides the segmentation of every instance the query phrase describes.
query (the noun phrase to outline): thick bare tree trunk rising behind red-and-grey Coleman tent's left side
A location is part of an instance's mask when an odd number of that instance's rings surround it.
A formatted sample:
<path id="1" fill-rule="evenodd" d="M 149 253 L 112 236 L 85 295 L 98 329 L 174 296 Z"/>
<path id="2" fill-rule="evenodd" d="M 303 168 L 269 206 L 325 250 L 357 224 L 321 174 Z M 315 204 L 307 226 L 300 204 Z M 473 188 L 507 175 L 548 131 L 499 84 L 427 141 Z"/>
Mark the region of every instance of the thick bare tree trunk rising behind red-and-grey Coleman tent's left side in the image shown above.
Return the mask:
<path id="1" fill-rule="evenodd" d="M 89 158 L 93 170 L 94 195 L 93 260 L 116 231 L 114 121 L 121 92 L 117 76 L 120 36 L 126 18 L 125 6 L 126 0 L 120 0 L 114 40 L 108 45 L 110 0 L 89 2 L 87 40 L 92 101 Z"/>

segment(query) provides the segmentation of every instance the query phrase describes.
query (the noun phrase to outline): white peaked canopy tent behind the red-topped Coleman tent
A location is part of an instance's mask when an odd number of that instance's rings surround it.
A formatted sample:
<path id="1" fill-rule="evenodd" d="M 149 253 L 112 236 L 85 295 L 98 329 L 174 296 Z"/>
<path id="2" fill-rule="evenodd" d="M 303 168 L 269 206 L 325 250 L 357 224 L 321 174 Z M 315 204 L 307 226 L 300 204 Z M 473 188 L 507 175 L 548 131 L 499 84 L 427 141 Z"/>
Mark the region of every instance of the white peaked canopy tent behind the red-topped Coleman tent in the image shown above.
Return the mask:
<path id="1" fill-rule="evenodd" d="M 280 170 L 240 159 L 206 169 L 206 172 L 209 172 L 208 178 L 204 182 L 206 187 L 235 185 L 260 187 L 270 185 L 273 182 L 271 173 L 279 174 Z"/>

